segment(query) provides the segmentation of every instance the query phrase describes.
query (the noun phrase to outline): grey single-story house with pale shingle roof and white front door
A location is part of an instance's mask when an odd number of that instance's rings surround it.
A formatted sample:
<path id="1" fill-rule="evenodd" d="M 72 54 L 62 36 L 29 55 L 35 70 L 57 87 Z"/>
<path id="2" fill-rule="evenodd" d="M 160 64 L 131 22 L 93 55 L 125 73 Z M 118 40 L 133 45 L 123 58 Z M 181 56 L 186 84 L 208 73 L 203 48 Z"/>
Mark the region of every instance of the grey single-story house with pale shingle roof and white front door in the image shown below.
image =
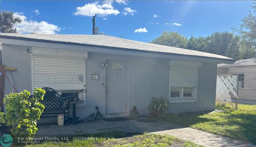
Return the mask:
<path id="1" fill-rule="evenodd" d="M 3 64 L 16 68 L 13 86 L 76 93 L 84 100 L 76 106 L 80 120 L 96 105 L 105 118 L 129 116 L 133 105 L 140 115 L 148 114 L 152 97 L 171 102 L 166 113 L 214 110 L 217 64 L 235 62 L 107 35 L 0 35 Z M 11 91 L 5 82 L 4 94 Z"/>

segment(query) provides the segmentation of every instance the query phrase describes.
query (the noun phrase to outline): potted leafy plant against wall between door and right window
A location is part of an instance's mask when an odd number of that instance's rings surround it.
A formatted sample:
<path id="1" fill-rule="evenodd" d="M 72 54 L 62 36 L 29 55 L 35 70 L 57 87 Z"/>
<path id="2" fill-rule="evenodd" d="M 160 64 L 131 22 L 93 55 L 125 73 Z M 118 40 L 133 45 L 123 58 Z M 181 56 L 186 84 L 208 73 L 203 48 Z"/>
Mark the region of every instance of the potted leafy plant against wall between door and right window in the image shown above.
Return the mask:
<path id="1" fill-rule="evenodd" d="M 158 101 L 156 101 L 155 97 L 152 97 L 151 101 L 149 110 L 154 112 L 156 115 L 162 115 L 164 114 L 164 111 L 169 109 L 170 102 L 164 99 L 164 97 L 160 97 Z"/>

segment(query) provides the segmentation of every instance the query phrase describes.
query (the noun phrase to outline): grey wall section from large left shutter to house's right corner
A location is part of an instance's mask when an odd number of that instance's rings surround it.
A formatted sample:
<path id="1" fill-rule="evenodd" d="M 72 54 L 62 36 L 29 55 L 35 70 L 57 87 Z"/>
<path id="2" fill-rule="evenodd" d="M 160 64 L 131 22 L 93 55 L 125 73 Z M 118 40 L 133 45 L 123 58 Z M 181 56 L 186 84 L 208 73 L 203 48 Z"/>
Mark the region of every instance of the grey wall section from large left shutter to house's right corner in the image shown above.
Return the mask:
<path id="1" fill-rule="evenodd" d="M 141 115 L 148 114 L 148 106 L 152 97 L 169 97 L 170 66 L 168 59 L 138 58 L 128 56 L 88 53 L 86 60 L 86 106 L 77 108 L 77 115 L 85 117 L 96 112 L 94 106 L 105 114 L 106 68 L 101 63 L 107 60 L 127 61 L 128 106 L 137 106 Z M 110 65 L 109 65 L 110 66 Z M 92 80 L 94 72 L 100 74 L 100 80 Z M 198 70 L 197 102 L 171 104 L 167 113 L 211 111 L 215 109 L 217 65 L 203 63 Z"/>

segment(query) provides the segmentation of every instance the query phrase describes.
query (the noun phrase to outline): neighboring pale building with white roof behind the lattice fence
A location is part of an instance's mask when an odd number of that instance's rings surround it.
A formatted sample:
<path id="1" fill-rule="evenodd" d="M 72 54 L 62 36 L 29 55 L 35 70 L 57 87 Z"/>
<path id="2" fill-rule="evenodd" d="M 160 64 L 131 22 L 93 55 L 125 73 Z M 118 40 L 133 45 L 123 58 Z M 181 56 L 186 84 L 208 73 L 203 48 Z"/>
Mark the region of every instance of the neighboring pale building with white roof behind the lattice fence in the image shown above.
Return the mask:
<path id="1" fill-rule="evenodd" d="M 217 75 L 239 74 L 239 88 L 256 89 L 256 59 L 238 60 L 234 64 L 218 64 Z"/>

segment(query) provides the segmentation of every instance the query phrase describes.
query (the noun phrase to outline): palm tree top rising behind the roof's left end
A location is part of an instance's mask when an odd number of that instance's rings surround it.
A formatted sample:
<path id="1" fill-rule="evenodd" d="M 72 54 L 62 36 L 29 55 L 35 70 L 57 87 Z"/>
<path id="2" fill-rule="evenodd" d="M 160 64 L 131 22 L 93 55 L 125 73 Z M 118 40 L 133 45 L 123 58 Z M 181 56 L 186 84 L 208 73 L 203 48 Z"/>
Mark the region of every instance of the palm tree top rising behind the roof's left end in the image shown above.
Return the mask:
<path id="1" fill-rule="evenodd" d="M 20 17 L 14 17 L 13 12 L 2 11 L 0 12 L 0 32 L 1 33 L 16 33 L 13 27 L 17 24 L 21 24 L 22 19 Z"/>

